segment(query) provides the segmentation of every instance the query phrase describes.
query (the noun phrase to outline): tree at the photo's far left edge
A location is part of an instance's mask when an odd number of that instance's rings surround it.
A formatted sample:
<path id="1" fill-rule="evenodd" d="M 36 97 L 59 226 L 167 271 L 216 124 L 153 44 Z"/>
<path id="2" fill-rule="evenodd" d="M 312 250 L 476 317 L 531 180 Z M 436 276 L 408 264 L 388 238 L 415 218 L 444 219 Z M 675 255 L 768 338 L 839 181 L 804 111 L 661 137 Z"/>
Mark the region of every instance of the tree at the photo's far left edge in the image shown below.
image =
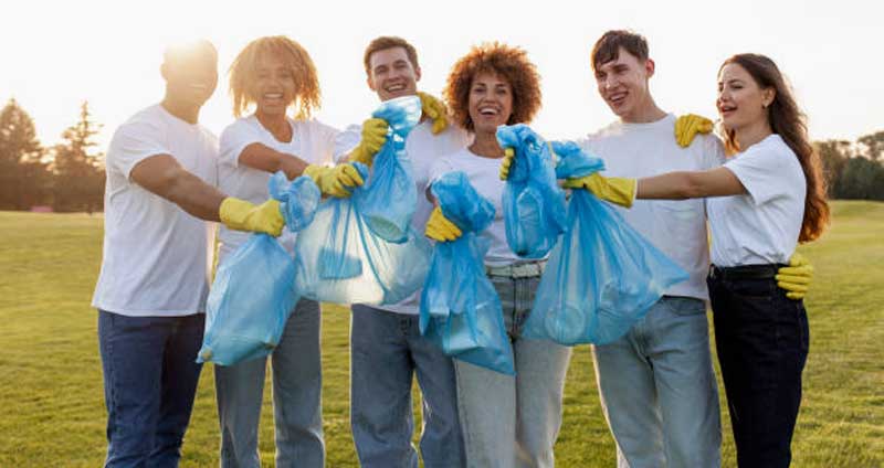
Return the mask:
<path id="1" fill-rule="evenodd" d="M 27 210 L 48 201 L 44 155 L 33 119 L 9 99 L 0 110 L 0 210 Z"/>

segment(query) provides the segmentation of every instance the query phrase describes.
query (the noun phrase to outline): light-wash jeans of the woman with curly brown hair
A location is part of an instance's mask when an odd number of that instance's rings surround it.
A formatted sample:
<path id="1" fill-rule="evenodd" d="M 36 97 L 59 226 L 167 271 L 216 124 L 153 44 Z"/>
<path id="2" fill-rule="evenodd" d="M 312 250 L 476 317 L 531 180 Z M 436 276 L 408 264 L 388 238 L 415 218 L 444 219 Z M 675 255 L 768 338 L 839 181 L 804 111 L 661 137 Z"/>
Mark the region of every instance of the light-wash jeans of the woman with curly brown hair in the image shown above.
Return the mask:
<path id="1" fill-rule="evenodd" d="M 552 467 L 571 349 L 520 338 L 540 277 L 492 276 L 513 343 L 516 376 L 454 361 L 469 467 Z"/>

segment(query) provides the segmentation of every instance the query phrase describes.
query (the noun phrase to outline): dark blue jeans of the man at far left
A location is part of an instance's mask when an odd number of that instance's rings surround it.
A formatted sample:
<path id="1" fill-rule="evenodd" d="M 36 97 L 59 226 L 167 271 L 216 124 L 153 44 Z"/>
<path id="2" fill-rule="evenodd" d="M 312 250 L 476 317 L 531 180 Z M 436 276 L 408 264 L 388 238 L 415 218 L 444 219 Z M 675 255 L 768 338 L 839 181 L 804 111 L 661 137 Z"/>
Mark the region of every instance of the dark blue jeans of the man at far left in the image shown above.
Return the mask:
<path id="1" fill-rule="evenodd" d="M 98 310 L 107 406 L 105 467 L 177 467 L 193 408 L 206 316 Z"/>

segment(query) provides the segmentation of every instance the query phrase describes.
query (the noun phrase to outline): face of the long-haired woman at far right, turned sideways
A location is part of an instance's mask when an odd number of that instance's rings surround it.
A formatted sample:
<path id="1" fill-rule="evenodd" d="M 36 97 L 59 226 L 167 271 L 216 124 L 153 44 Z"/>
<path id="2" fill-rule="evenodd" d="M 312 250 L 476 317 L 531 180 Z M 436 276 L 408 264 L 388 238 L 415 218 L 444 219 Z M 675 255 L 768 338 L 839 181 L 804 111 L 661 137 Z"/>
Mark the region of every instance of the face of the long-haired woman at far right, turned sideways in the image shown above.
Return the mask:
<path id="1" fill-rule="evenodd" d="M 727 130 L 739 130 L 768 118 L 767 107 L 774 102 L 772 88 L 762 88 L 749 72 L 728 63 L 718 73 L 718 115 Z"/>

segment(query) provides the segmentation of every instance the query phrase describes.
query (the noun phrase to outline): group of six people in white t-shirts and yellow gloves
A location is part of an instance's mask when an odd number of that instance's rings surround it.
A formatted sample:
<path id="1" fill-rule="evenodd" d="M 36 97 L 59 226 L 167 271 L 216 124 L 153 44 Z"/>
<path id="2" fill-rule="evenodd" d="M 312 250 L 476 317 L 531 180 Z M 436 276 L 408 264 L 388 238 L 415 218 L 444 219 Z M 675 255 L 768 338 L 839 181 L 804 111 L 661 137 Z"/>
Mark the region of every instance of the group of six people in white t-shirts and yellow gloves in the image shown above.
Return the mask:
<path id="1" fill-rule="evenodd" d="M 495 136 L 498 126 L 529 124 L 539 110 L 539 72 L 519 47 L 482 44 L 452 67 L 443 104 L 418 91 L 421 68 L 407 41 L 375 39 L 364 63 L 380 102 L 421 99 L 423 116 L 406 140 L 418 189 L 413 227 L 436 242 L 461 235 L 429 195 L 433 180 L 453 170 L 496 208 L 481 235 L 491 241 L 486 273 L 501 298 L 516 375 L 452 360 L 423 338 L 419 291 L 396 305 L 352 305 L 350 418 L 359 461 L 418 466 L 417 377 L 424 466 L 551 467 L 571 351 L 520 337 L 545 260 L 507 246 L 502 193 L 517 162 Z M 591 67 L 618 119 L 579 145 L 603 158 L 606 171 L 562 184 L 622 206 L 624 221 L 690 274 L 624 337 L 593 347 L 619 465 L 720 465 L 711 299 L 738 462 L 788 466 L 809 338 L 801 297 L 810 267 L 792 256 L 799 242 L 821 234 L 829 215 L 803 116 L 761 55 L 735 55 L 720 67 L 720 138 L 708 120 L 676 119 L 657 107 L 649 87 L 654 62 L 641 35 L 604 33 Z M 348 196 L 364 183 L 352 162 L 370 166 L 387 138 L 381 119 L 343 131 L 314 119 L 320 91 L 311 56 L 288 38 L 269 36 L 246 45 L 231 66 L 236 119 L 219 141 L 199 124 L 217 68 L 208 42 L 168 49 L 162 102 L 123 124 L 107 151 L 104 260 L 93 306 L 108 467 L 177 466 L 180 458 L 200 374 L 213 245 L 206 221 L 221 223 L 220 262 L 249 232 L 280 236 L 291 251 L 297 238 L 283 233 L 278 203 L 269 200 L 271 174 L 307 176 L 325 196 Z M 271 354 L 277 466 L 325 464 L 319 313 L 316 301 L 302 299 Z M 260 466 L 266 365 L 257 359 L 214 366 L 221 466 Z"/>

